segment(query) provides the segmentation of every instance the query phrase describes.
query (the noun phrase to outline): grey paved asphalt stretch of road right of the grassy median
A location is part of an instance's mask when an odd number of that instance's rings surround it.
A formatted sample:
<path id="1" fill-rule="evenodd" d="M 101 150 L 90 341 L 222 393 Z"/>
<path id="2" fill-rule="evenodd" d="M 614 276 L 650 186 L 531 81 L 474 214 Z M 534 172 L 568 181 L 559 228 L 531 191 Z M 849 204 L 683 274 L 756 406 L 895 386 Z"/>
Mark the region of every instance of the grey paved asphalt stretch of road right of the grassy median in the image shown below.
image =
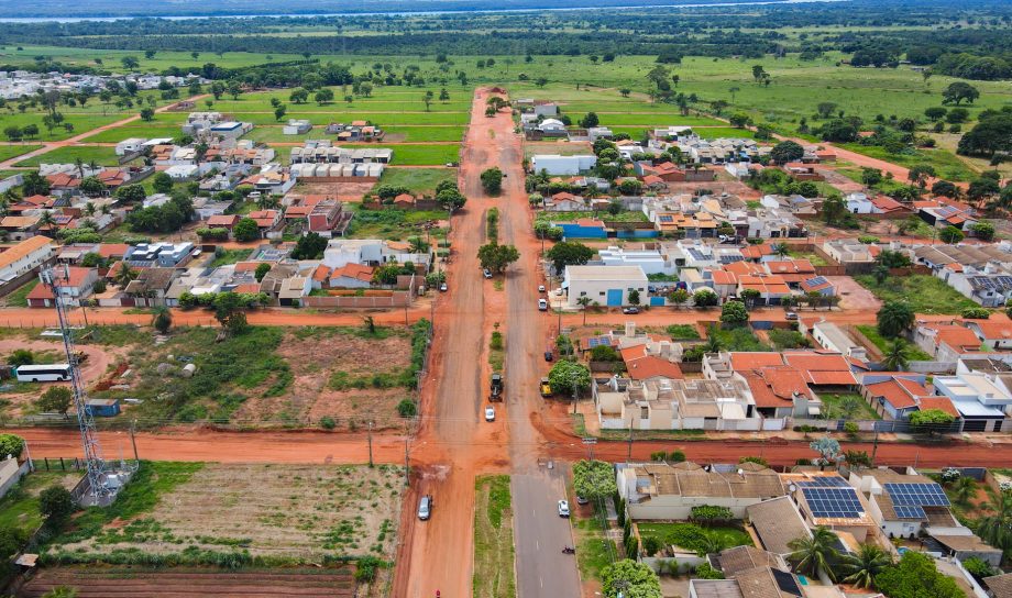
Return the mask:
<path id="1" fill-rule="evenodd" d="M 569 519 L 559 517 L 559 500 L 565 488 L 558 469 L 513 475 L 514 543 L 517 549 L 517 596 L 519 598 L 576 598 L 580 578 L 572 554 Z"/>

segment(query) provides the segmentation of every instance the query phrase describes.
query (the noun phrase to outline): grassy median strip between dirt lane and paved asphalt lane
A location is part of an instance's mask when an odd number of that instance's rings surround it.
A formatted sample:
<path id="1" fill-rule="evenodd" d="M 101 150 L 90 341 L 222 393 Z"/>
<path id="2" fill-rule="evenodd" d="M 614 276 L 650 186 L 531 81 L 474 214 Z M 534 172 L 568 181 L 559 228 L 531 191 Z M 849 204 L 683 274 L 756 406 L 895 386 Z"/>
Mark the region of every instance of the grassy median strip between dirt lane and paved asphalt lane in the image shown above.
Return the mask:
<path id="1" fill-rule="evenodd" d="M 509 476 L 479 476 L 474 491 L 473 596 L 513 598 L 517 588 Z"/>

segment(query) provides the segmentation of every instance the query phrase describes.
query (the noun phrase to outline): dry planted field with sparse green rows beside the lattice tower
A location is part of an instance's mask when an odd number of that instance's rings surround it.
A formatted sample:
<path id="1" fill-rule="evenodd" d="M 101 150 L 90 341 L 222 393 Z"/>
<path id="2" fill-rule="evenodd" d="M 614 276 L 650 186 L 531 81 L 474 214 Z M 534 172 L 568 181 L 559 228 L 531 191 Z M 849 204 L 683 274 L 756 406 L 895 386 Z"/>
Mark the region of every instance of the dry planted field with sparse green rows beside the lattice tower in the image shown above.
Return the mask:
<path id="1" fill-rule="evenodd" d="M 403 486 L 403 472 L 388 465 L 144 462 L 111 507 L 85 511 L 45 552 L 56 562 L 113 564 L 131 553 L 187 551 L 292 563 L 385 558 L 396 545 Z"/>

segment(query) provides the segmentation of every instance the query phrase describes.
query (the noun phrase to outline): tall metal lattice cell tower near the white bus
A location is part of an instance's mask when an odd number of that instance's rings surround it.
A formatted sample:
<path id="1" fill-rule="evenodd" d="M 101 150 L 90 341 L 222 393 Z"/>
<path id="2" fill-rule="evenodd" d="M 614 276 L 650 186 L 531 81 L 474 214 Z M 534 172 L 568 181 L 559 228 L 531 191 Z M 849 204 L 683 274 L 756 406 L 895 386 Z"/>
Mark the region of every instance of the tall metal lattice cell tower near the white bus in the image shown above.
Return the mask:
<path id="1" fill-rule="evenodd" d="M 57 273 L 57 269 L 62 270 Z M 63 278 L 61 278 L 63 275 Z M 70 366 L 70 389 L 74 392 L 74 408 L 77 410 L 77 424 L 80 428 L 80 442 L 85 451 L 85 465 L 88 469 L 89 494 L 81 497 L 82 501 L 101 503 L 116 490 L 107 484 L 106 461 L 102 458 L 102 447 L 98 442 L 98 432 L 95 429 L 95 418 L 85 403 L 85 389 L 80 379 L 80 367 L 77 364 L 77 352 L 74 350 L 74 331 L 67 315 L 67 308 L 61 301 L 59 283 L 69 279 L 67 266 L 47 268 L 42 272 L 42 284 L 50 287 L 56 303 L 56 318 L 59 321 L 59 332 L 63 336 L 64 351 L 67 353 L 67 364 Z M 90 500 L 89 500 L 90 499 Z"/>

